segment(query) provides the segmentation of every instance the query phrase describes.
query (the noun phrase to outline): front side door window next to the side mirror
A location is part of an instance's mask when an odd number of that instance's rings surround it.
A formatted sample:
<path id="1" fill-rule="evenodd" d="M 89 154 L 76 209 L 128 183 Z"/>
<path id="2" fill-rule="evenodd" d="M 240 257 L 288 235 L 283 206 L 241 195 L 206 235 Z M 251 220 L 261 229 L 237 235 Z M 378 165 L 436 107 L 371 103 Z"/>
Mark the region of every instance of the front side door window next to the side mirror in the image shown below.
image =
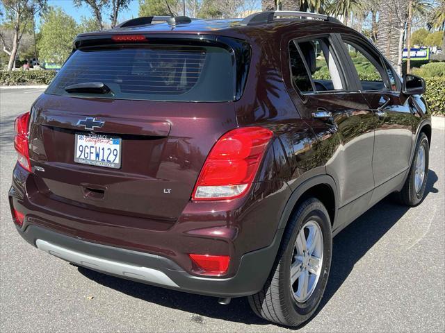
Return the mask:
<path id="1" fill-rule="evenodd" d="M 371 56 L 362 47 L 353 42 L 344 42 L 357 74 L 362 89 L 387 91 L 396 89 L 396 80 L 391 69 L 386 69 L 379 58 Z M 389 75 L 390 74 L 390 75 Z"/>

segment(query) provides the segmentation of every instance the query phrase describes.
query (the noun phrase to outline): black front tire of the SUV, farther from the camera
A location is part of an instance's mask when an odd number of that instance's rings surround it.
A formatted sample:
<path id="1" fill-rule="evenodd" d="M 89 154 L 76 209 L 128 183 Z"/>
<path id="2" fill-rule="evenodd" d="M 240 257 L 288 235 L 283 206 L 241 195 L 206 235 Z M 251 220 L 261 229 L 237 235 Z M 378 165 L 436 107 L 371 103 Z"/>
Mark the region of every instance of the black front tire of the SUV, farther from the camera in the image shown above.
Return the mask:
<path id="1" fill-rule="evenodd" d="M 419 173 L 419 151 L 424 152 L 424 164 L 423 164 L 423 180 L 421 185 L 416 185 L 416 175 Z M 430 160 L 430 145 L 428 143 L 428 137 L 425 133 L 419 135 L 419 139 L 416 142 L 416 150 L 414 151 L 414 157 L 412 158 L 410 171 L 405 180 L 402 190 L 398 193 L 398 202 L 402 205 L 414 207 L 421 203 L 423 196 L 425 195 L 426 182 L 428 180 L 428 163 Z"/>

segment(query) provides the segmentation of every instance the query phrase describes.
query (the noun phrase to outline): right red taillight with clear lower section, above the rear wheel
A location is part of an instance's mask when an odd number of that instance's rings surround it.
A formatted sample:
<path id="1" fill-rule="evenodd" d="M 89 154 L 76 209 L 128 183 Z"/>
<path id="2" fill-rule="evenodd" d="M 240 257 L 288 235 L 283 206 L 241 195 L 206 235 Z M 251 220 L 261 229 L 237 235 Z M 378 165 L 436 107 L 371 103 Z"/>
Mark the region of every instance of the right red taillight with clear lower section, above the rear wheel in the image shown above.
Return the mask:
<path id="1" fill-rule="evenodd" d="M 245 194 L 272 136 L 267 128 L 245 127 L 220 137 L 202 167 L 193 200 L 232 199 Z"/>

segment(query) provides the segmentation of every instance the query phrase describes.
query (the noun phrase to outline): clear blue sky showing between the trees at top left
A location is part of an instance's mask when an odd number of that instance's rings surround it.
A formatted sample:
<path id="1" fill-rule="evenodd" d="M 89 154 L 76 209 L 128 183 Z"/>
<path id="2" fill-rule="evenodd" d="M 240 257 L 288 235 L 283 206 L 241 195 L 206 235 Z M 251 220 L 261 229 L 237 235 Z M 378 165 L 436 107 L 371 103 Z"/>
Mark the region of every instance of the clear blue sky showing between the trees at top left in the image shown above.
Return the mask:
<path id="1" fill-rule="evenodd" d="M 87 6 L 82 6 L 81 8 L 76 8 L 72 0 L 49 0 L 49 6 L 60 7 L 65 12 L 76 20 L 76 22 L 81 21 L 81 17 L 92 17 L 92 11 Z M 123 22 L 126 19 L 131 19 L 132 17 L 138 17 L 139 1 L 131 0 L 128 10 L 122 10 L 119 13 L 118 21 Z M 104 21 L 109 21 L 108 14 L 102 14 Z"/>

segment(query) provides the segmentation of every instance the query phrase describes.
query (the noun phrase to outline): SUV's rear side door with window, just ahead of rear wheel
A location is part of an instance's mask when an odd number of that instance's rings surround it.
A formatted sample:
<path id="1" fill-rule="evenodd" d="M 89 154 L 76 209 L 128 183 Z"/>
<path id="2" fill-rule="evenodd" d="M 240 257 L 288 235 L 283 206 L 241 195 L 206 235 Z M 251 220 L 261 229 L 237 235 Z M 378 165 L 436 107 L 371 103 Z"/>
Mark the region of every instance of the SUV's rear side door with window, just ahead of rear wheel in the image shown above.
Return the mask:
<path id="1" fill-rule="evenodd" d="M 343 53 L 334 48 L 337 42 L 337 35 L 321 34 L 289 38 L 282 47 L 289 52 L 291 79 L 286 85 L 300 116 L 316 135 L 314 163 L 325 164 L 335 178 L 341 207 L 373 190 L 375 119 L 341 62 Z M 323 117 L 329 112 L 332 117 Z"/>

